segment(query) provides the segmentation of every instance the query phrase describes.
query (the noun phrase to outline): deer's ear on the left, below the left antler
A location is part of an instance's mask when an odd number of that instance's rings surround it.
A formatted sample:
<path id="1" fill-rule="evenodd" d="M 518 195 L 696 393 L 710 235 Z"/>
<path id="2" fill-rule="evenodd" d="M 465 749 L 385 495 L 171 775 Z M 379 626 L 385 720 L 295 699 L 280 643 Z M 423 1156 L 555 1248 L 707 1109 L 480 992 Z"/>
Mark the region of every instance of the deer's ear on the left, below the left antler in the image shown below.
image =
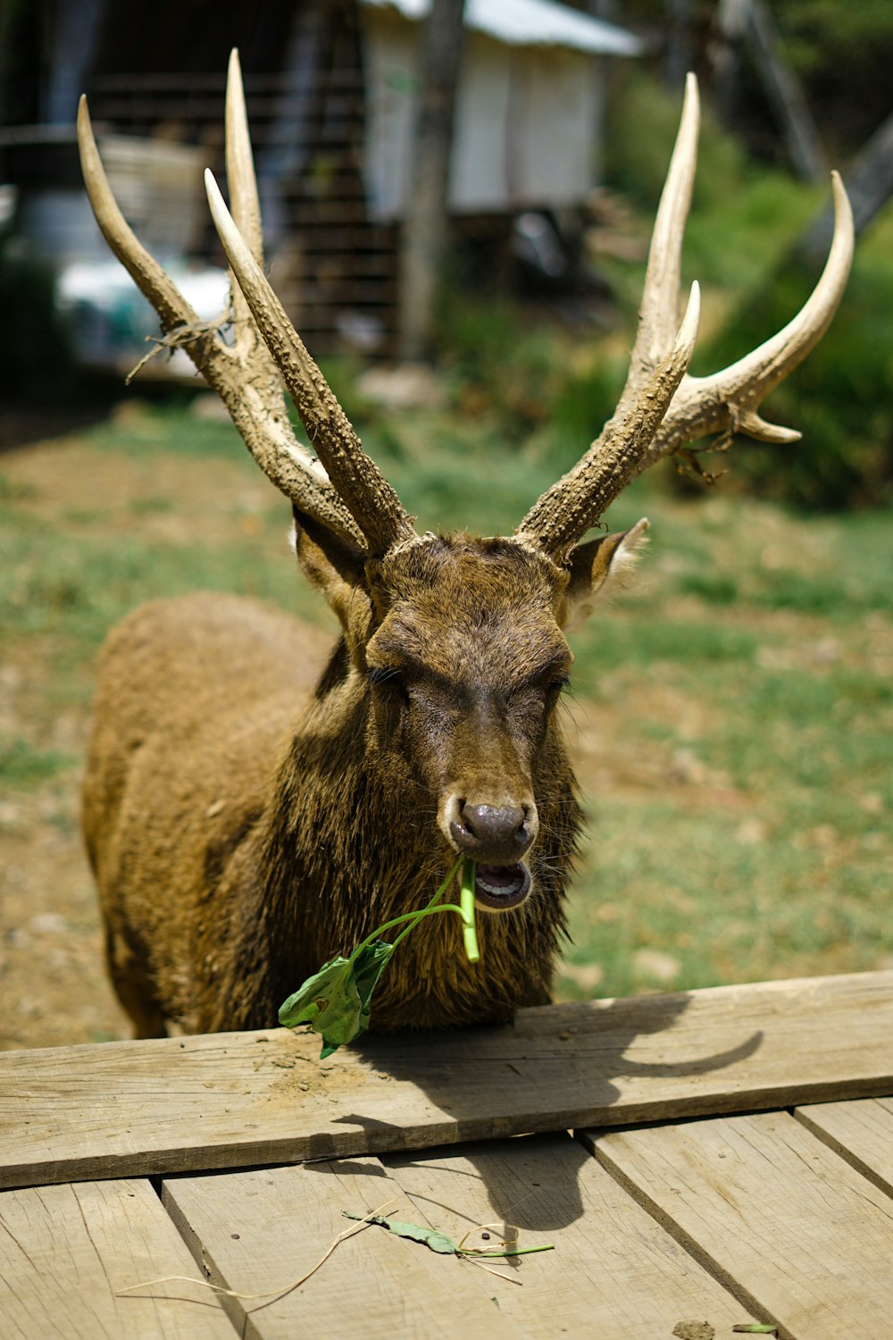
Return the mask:
<path id="1" fill-rule="evenodd" d="M 353 657 L 370 635 L 372 607 L 366 580 L 366 553 L 297 508 L 292 508 L 292 545 L 301 572 L 323 592 L 337 615 Z"/>

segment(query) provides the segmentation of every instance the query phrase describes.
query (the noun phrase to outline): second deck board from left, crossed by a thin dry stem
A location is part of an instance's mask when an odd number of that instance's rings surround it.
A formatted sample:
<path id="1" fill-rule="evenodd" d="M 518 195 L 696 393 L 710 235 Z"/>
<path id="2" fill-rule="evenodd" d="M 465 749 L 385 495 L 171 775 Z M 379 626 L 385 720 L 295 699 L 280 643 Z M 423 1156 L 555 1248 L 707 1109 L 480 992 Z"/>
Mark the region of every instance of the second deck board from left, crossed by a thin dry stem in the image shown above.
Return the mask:
<path id="1" fill-rule="evenodd" d="M 370 1158 L 178 1178 L 163 1186 L 166 1207 L 210 1278 L 253 1294 L 278 1290 L 308 1272 L 351 1227 L 344 1210 L 366 1214 L 390 1198 L 383 1213 L 412 1219 L 400 1187 Z M 224 1298 L 224 1306 L 240 1335 L 253 1340 L 517 1340 L 518 1331 L 481 1293 L 473 1273 L 455 1257 L 372 1226 L 341 1242 L 285 1297 Z"/>

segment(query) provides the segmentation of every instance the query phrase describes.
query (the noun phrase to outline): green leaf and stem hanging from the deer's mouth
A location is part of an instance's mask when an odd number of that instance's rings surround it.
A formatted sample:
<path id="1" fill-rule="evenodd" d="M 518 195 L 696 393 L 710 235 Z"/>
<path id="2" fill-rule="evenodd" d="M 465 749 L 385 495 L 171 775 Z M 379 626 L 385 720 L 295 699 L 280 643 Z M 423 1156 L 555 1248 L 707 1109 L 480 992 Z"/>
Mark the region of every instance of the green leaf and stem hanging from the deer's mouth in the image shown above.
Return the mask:
<path id="1" fill-rule="evenodd" d="M 442 903 L 440 898 L 459 870 L 462 871 L 459 903 Z M 331 1056 L 345 1043 L 352 1043 L 355 1037 L 360 1037 L 370 1026 L 372 992 L 394 950 L 426 917 L 434 917 L 438 913 L 458 913 L 462 918 L 466 957 L 470 963 L 477 963 L 481 951 L 474 929 L 474 862 L 469 856 L 459 856 L 426 907 L 394 917 L 378 926 L 352 950 L 348 958 L 340 954 L 336 958 L 329 958 L 319 973 L 313 973 L 312 977 L 301 982 L 299 989 L 280 1005 L 280 1024 L 285 1028 L 309 1024 L 313 1032 L 323 1038 L 320 1060 Z M 399 935 L 394 941 L 382 939 L 383 933 L 394 926 L 403 926 Z"/>

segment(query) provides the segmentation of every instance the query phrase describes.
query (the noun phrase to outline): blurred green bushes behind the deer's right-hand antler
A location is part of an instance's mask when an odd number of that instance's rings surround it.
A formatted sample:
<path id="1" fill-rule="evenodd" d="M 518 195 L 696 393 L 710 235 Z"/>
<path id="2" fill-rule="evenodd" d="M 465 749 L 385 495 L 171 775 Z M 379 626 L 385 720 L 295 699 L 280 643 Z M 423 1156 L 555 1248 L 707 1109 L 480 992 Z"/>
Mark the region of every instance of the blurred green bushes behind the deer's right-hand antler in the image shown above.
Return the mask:
<path id="1" fill-rule="evenodd" d="M 641 210 L 643 233 L 663 188 L 680 98 L 647 74 L 624 80 L 612 105 L 608 182 Z M 799 310 L 817 275 L 793 260 L 797 239 L 827 200 L 755 163 L 703 110 L 699 168 L 683 252 L 683 281 L 704 289 L 702 338 L 692 371 L 708 374 L 760 344 Z M 489 415 L 507 442 L 532 434 L 557 470 L 568 469 L 613 413 L 632 346 L 644 264 L 604 260 L 619 335 L 572 339 L 506 300 L 450 285 L 440 310 L 440 351 L 454 405 Z M 803 433 L 802 445 L 740 440 L 724 488 L 803 508 L 880 505 L 893 498 L 893 218 L 877 220 L 829 334 L 773 395 L 770 417 Z M 677 476 L 657 472 L 664 480 Z"/>

